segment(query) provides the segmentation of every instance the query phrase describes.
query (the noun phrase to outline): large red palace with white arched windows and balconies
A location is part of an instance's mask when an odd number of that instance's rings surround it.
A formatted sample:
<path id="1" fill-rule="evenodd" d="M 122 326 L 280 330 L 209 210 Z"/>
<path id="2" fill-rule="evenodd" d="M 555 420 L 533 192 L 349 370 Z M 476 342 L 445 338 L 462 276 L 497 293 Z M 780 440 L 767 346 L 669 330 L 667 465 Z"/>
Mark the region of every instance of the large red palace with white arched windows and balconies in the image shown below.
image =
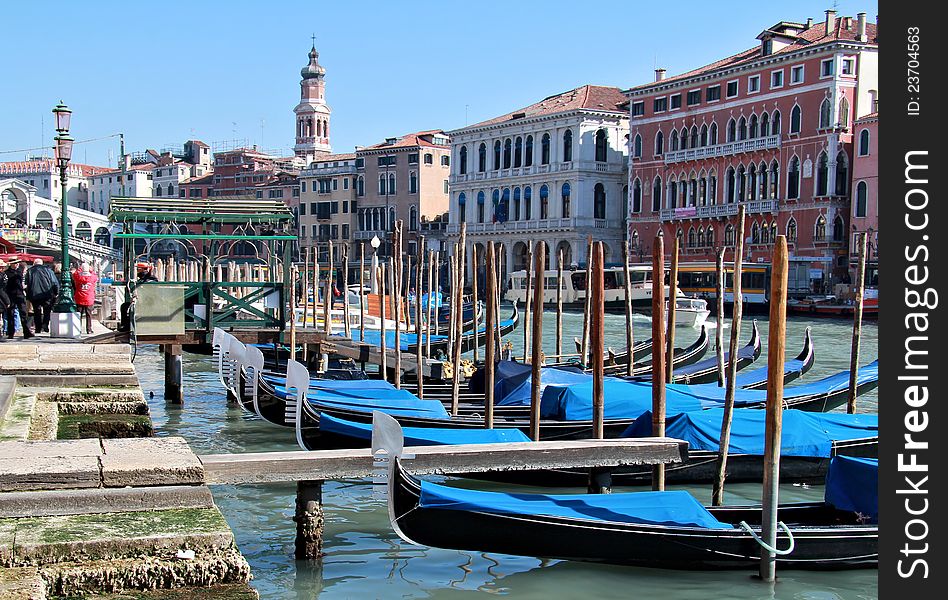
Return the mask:
<path id="1" fill-rule="evenodd" d="M 746 209 L 745 260 L 790 246 L 791 292 L 823 292 L 848 272 L 856 116 L 878 101 L 876 24 L 865 14 L 782 21 L 759 45 L 626 91 L 628 235 L 651 255 L 662 231 L 682 260 L 734 246 Z M 666 243 L 666 248 L 668 244 Z"/>

